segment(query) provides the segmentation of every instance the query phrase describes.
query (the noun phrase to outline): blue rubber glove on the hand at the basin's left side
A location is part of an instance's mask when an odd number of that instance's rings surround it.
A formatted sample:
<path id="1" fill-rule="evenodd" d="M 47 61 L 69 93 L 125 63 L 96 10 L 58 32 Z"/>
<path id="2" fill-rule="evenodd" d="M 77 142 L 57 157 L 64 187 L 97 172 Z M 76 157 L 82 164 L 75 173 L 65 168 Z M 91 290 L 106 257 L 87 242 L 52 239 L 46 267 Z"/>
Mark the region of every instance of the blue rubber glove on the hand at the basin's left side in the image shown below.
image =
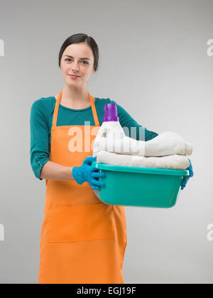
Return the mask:
<path id="1" fill-rule="evenodd" d="M 106 177 L 106 174 L 100 172 L 97 167 L 92 167 L 91 164 L 94 160 L 96 160 L 96 157 L 87 156 L 80 167 L 72 168 L 72 177 L 78 184 L 89 182 L 92 189 L 100 189 L 100 187 L 103 187 L 105 184 L 102 181 L 98 181 L 96 178 Z"/>

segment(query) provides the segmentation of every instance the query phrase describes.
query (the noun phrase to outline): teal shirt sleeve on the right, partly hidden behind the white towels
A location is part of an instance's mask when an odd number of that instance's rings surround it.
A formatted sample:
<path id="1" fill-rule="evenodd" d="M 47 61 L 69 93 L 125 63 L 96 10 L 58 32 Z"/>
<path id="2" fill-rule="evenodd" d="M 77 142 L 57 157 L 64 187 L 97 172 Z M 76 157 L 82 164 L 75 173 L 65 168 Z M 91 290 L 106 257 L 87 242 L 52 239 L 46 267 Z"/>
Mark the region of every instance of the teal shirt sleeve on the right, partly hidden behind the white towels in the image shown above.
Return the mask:
<path id="1" fill-rule="evenodd" d="M 111 101 L 114 104 L 116 104 L 116 101 Z M 119 104 L 116 104 L 118 116 L 119 116 L 119 122 L 124 129 L 124 133 L 126 136 L 129 136 L 130 138 L 134 138 L 136 140 L 151 140 L 158 136 L 158 133 L 155 133 L 154 131 L 148 131 L 148 129 L 144 126 L 141 126 L 138 124 L 131 116 L 130 114 L 122 108 L 122 106 L 119 106 Z"/>

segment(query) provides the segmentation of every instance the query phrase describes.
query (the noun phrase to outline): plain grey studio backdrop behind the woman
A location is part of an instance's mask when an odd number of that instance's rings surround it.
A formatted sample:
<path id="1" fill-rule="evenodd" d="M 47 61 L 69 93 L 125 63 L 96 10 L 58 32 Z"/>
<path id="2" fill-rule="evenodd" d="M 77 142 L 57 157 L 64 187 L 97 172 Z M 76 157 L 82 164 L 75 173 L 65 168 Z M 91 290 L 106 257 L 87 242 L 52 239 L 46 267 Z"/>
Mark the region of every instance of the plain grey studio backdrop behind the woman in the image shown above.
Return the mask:
<path id="1" fill-rule="evenodd" d="M 31 105 L 62 89 L 60 46 L 87 33 L 100 54 L 90 94 L 194 148 L 194 177 L 172 209 L 126 207 L 124 282 L 212 283 L 213 1 L 0 4 L 0 282 L 38 282 L 45 180 L 30 164 Z"/>

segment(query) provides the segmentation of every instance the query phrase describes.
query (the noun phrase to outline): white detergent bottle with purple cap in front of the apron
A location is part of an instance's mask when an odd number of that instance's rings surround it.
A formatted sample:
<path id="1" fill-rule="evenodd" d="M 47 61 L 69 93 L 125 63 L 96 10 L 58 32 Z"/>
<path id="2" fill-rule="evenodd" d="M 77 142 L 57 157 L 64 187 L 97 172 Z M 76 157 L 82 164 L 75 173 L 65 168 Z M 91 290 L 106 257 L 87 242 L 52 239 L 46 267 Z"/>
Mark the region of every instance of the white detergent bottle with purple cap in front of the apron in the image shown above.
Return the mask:
<path id="1" fill-rule="evenodd" d="M 99 152 L 100 148 L 103 148 L 104 146 L 106 147 L 106 145 L 108 147 L 105 149 L 111 151 L 111 147 L 113 147 L 115 141 L 124 139 L 125 137 L 124 130 L 119 123 L 116 104 L 105 104 L 102 126 L 99 128 L 97 136 L 94 140 L 93 157 L 97 155 L 97 152 Z"/>

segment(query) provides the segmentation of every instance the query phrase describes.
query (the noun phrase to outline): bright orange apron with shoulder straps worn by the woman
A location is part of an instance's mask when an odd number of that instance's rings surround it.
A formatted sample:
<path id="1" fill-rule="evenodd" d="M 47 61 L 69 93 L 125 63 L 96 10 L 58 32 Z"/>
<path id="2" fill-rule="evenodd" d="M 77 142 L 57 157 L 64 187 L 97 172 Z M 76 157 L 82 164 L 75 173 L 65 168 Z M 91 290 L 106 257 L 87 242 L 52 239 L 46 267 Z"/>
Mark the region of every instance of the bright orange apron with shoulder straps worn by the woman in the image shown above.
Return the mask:
<path id="1" fill-rule="evenodd" d="M 100 127 L 97 111 L 89 94 L 95 126 L 56 126 L 61 95 L 62 90 L 53 114 L 50 160 L 79 167 L 93 154 L 92 144 Z M 73 131 L 78 136 L 82 134 L 82 150 L 76 152 L 70 151 L 75 140 Z M 103 203 L 88 182 L 80 185 L 75 180 L 45 180 L 45 184 L 38 283 L 124 283 L 122 267 L 127 242 L 124 206 Z"/>

